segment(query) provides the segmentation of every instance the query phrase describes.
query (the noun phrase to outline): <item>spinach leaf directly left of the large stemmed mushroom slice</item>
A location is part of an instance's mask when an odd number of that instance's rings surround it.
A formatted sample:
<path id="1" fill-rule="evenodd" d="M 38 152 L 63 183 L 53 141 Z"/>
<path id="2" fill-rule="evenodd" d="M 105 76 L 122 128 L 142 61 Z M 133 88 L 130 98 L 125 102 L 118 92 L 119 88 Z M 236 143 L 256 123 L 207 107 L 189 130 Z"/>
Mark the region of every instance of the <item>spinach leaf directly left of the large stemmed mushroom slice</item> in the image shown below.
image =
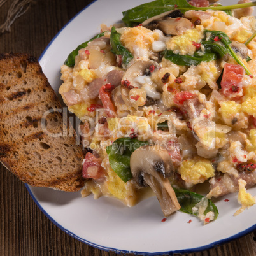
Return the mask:
<path id="1" fill-rule="evenodd" d="M 131 180 L 130 157 L 132 152 L 141 146 L 148 145 L 147 141 L 139 141 L 136 138 L 120 138 L 106 148 L 111 168 L 122 181 Z"/>

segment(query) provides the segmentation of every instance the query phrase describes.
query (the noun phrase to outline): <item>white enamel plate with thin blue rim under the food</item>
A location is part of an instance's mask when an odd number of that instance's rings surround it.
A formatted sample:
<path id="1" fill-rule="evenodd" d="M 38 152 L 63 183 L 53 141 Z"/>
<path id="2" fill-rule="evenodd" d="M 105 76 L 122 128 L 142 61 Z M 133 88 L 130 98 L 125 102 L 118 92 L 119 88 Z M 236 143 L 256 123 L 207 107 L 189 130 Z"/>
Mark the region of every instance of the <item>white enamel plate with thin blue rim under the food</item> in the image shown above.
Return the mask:
<path id="1" fill-rule="evenodd" d="M 111 25 L 122 18 L 122 11 L 147 0 L 97 0 L 78 13 L 41 55 L 40 64 L 53 89 L 60 86 L 60 66 L 80 43 L 100 31 L 100 24 Z M 225 4 L 234 1 L 225 0 Z M 155 197 L 128 208 L 115 199 L 80 192 L 58 192 L 50 188 L 27 186 L 32 198 L 45 215 L 70 236 L 102 250 L 145 254 L 189 253 L 206 250 L 256 229 L 256 206 L 241 215 L 237 194 L 218 199 L 220 215 L 203 225 L 196 217 L 175 213 L 161 222 L 163 215 Z M 256 195 L 256 187 L 248 190 Z M 225 202 L 228 198 L 230 201 Z M 192 220 L 191 223 L 188 223 Z"/>

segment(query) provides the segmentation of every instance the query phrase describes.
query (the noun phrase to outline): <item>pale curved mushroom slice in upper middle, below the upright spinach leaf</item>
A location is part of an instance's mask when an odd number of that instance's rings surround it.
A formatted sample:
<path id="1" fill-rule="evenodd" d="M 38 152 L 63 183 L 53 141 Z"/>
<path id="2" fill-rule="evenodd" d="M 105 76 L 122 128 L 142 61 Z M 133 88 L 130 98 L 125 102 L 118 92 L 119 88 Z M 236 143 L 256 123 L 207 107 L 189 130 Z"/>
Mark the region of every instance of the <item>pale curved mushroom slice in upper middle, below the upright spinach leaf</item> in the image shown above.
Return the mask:
<path id="1" fill-rule="evenodd" d="M 127 80 L 132 87 L 141 87 L 141 84 L 138 83 L 135 78 L 137 78 L 138 76 L 150 76 L 150 66 L 154 66 L 154 70 L 157 71 L 159 70 L 160 66 L 157 62 L 153 61 L 153 60 L 138 60 L 136 61 L 134 64 L 132 64 L 127 71 L 125 71 L 124 76 L 122 78 L 123 81 Z M 122 85 L 121 87 L 121 93 L 122 93 L 122 97 L 124 99 L 124 102 L 126 104 L 130 103 L 130 99 L 129 99 L 129 89 L 127 89 L 126 87 L 124 87 Z"/>

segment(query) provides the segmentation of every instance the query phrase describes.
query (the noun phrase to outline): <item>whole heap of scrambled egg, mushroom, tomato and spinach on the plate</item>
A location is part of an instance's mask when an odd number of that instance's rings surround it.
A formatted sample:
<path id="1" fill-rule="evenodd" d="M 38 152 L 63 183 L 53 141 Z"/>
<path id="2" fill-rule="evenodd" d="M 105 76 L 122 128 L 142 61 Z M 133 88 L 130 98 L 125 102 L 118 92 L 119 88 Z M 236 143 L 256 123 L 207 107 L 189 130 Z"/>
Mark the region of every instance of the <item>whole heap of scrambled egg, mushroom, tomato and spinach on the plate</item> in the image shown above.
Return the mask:
<path id="1" fill-rule="evenodd" d="M 165 216 L 204 223 L 218 215 L 212 197 L 239 191 L 237 213 L 255 204 L 253 6 L 141 4 L 70 53 L 59 92 L 89 151 L 82 196 L 133 206 L 149 186 Z"/>

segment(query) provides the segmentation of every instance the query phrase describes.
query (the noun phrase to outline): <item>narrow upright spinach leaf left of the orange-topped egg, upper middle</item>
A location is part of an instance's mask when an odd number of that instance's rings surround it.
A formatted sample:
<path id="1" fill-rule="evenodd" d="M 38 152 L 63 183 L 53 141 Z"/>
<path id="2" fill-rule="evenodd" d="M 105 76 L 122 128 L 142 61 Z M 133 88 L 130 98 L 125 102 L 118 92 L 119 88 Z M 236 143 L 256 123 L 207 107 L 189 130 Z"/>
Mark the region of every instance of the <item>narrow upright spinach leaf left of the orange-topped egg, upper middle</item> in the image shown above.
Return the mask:
<path id="1" fill-rule="evenodd" d="M 122 45 L 120 37 L 121 34 L 117 32 L 115 27 L 112 27 L 110 34 L 111 52 L 116 55 L 122 55 L 123 63 L 127 65 L 133 59 L 133 55 Z"/>

